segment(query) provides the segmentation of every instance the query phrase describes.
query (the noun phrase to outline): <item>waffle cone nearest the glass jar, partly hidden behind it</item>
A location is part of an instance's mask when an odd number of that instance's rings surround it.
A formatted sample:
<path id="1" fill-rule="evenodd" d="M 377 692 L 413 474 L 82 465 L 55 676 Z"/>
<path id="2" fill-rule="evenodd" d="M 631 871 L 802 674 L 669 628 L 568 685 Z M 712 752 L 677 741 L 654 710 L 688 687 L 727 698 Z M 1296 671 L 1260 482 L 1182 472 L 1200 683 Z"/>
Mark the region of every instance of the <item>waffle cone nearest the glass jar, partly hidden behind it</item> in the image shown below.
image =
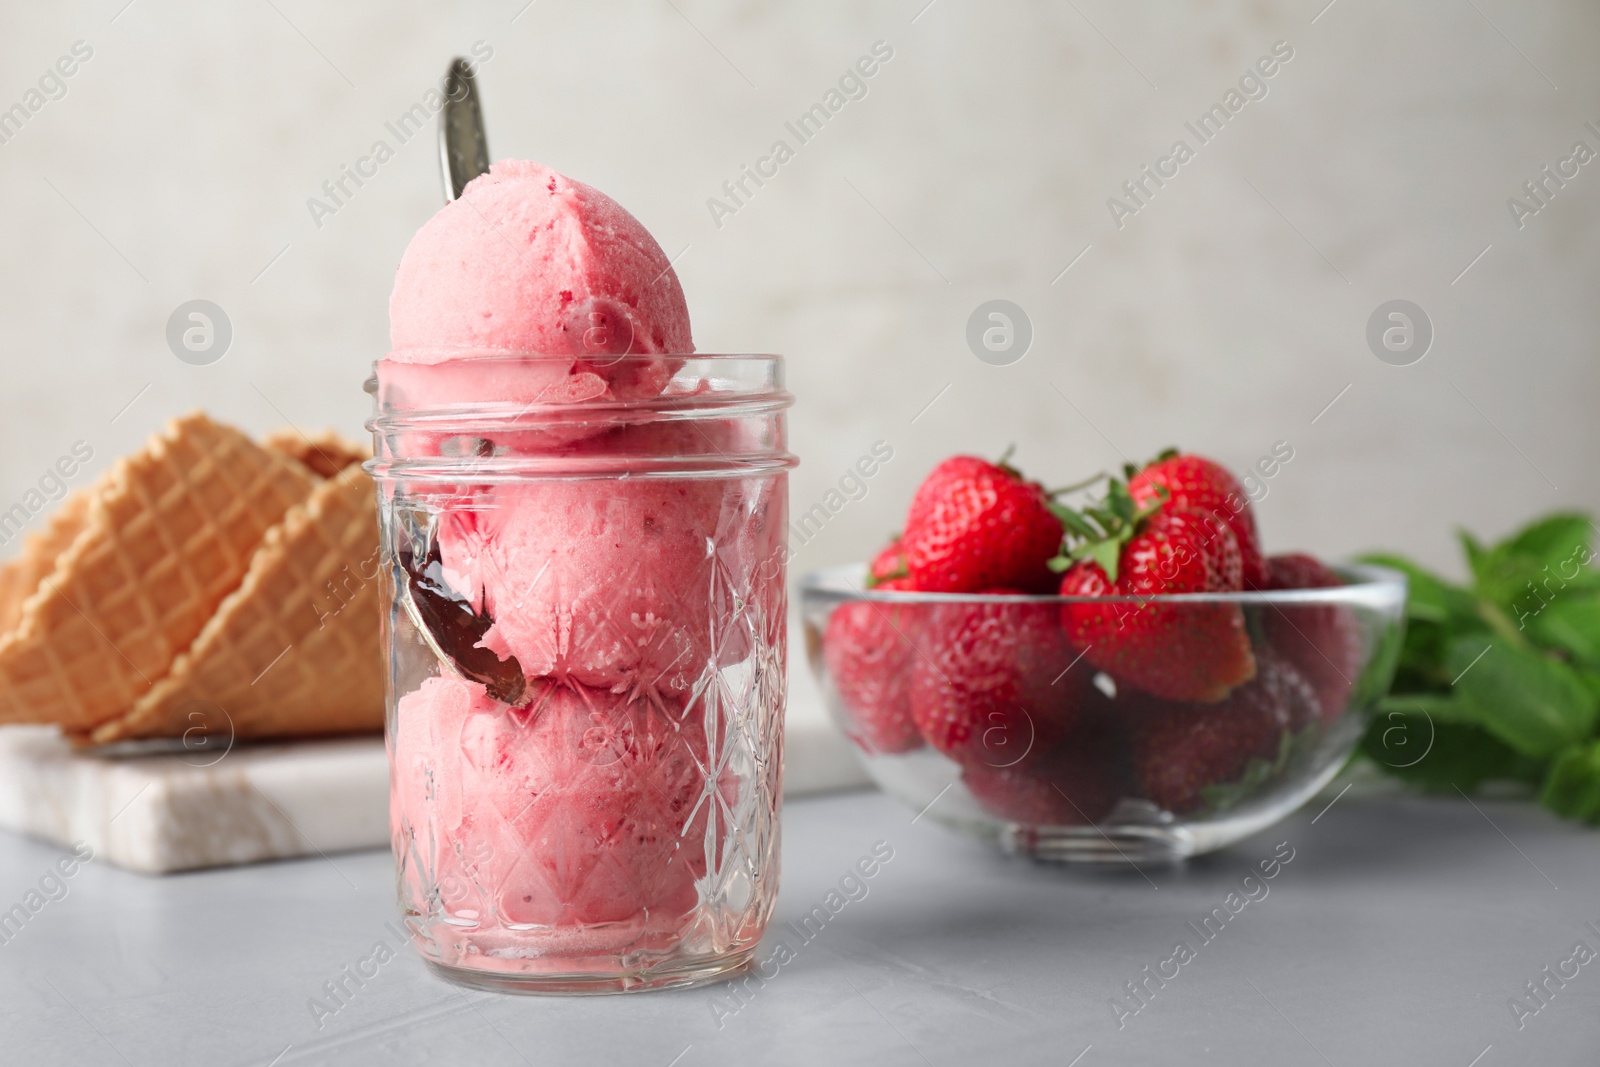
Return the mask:
<path id="1" fill-rule="evenodd" d="M 194 646 L 91 741 L 382 729 L 379 566 L 373 483 L 346 467 L 267 531 Z"/>

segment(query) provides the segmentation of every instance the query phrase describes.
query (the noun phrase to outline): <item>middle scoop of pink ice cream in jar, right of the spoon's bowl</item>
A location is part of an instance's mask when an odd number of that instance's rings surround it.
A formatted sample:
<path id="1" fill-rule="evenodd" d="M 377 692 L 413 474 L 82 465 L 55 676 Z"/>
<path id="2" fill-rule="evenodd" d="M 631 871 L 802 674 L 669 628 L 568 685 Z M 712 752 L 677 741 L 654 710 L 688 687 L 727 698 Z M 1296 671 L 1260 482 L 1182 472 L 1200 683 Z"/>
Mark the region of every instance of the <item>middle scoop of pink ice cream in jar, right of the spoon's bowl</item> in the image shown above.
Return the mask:
<path id="1" fill-rule="evenodd" d="M 568 451 L 638 462 L 734 448 L 725 427 L 669 422 Z M 722 478 L 522 483 L 442 515 L 438 545 L 450 585 L 494 619 L 482 645 L 526 677 L 675 701 L 749 651 L 744 629 L 714 622 L 738 609 L 739 560 L 776 553 L 771 509 L 765 490 Z"/>

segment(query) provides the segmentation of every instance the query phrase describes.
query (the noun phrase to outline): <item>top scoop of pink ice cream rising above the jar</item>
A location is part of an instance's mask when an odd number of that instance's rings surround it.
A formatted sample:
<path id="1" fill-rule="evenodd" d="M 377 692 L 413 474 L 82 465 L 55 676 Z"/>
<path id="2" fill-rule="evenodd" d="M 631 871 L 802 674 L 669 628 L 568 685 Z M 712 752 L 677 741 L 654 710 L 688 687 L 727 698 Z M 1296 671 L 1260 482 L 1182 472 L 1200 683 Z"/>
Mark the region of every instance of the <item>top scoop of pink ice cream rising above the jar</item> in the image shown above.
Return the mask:
<path id="1" fill-rule="evenodd" d="M 614 357 L 694 350 L 683 290 L 656 238 L 603 192 L 522 160 L 475 178 L 411 238 L 389 298 L 389 341 L 397 363 L 571 355 L 550 400 L 659 394 L 672 360 L 616 374 Z"/>

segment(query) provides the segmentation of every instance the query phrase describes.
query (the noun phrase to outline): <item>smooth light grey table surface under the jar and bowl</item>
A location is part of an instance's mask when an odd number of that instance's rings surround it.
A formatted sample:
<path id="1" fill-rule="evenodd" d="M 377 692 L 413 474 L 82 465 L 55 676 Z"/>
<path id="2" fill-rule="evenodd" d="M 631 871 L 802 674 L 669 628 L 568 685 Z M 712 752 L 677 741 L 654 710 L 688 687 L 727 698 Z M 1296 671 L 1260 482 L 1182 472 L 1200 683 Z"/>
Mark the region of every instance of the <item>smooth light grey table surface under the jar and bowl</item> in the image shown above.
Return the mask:
<path id="1" fill-rule="evenodd" d="M 742 1001 L 725 984 L 464 993 L 405 950 L 318 1014 L 325 982 L 397 941 L 387 853 L 166 878 L 90 862 L 0 944 L 0 1062 L 1600 1062 L 1600 963 L 1563 963 L 1578 942 L 1600 950 L 1586 926 L 1600 926 L 1600 835 L 1522 801 L 1325 803 L 1141 873 L 1003 856 L 880 793 L 794 801 L 757 957 L 771 977 Z M 894 856 L 866 896 L 802 942 L 789 923 L 877 841 Z M 1293 859 L 1243 881 L 1275 854 Z M 0 835 L 0 909 L 59 856 Z M 1229 918 L 1203 941 L 1219 907 Z M 1163 965 L 1178 942 L 1192 955 Z M 1147 982 L 1133 1014 L 1125 982 L 1146 966 L 1176 976 Z M 1578 973 L 1558 984 L 1547 966 Z M 1526 992 L 1541 979 L 1542 1005 Z"/>

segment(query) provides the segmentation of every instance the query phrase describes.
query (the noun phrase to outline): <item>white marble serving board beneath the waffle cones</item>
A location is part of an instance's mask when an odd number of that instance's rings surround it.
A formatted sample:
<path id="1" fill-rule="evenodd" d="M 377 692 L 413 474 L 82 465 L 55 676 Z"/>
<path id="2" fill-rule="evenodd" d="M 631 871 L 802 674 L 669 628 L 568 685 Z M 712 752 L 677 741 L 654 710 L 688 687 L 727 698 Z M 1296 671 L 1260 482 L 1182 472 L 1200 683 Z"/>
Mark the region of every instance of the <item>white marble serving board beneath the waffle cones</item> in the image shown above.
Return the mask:
<path id="1" fill-rule="evenodd" d="M 795 678 L 784 795 L 867 784 L 808 677 Z M 83 753 L 54 726 L 0 728 L 0 829 L 170 873 L 389 843 L 382 737 L 234 745 L 221 753 Z"/>

